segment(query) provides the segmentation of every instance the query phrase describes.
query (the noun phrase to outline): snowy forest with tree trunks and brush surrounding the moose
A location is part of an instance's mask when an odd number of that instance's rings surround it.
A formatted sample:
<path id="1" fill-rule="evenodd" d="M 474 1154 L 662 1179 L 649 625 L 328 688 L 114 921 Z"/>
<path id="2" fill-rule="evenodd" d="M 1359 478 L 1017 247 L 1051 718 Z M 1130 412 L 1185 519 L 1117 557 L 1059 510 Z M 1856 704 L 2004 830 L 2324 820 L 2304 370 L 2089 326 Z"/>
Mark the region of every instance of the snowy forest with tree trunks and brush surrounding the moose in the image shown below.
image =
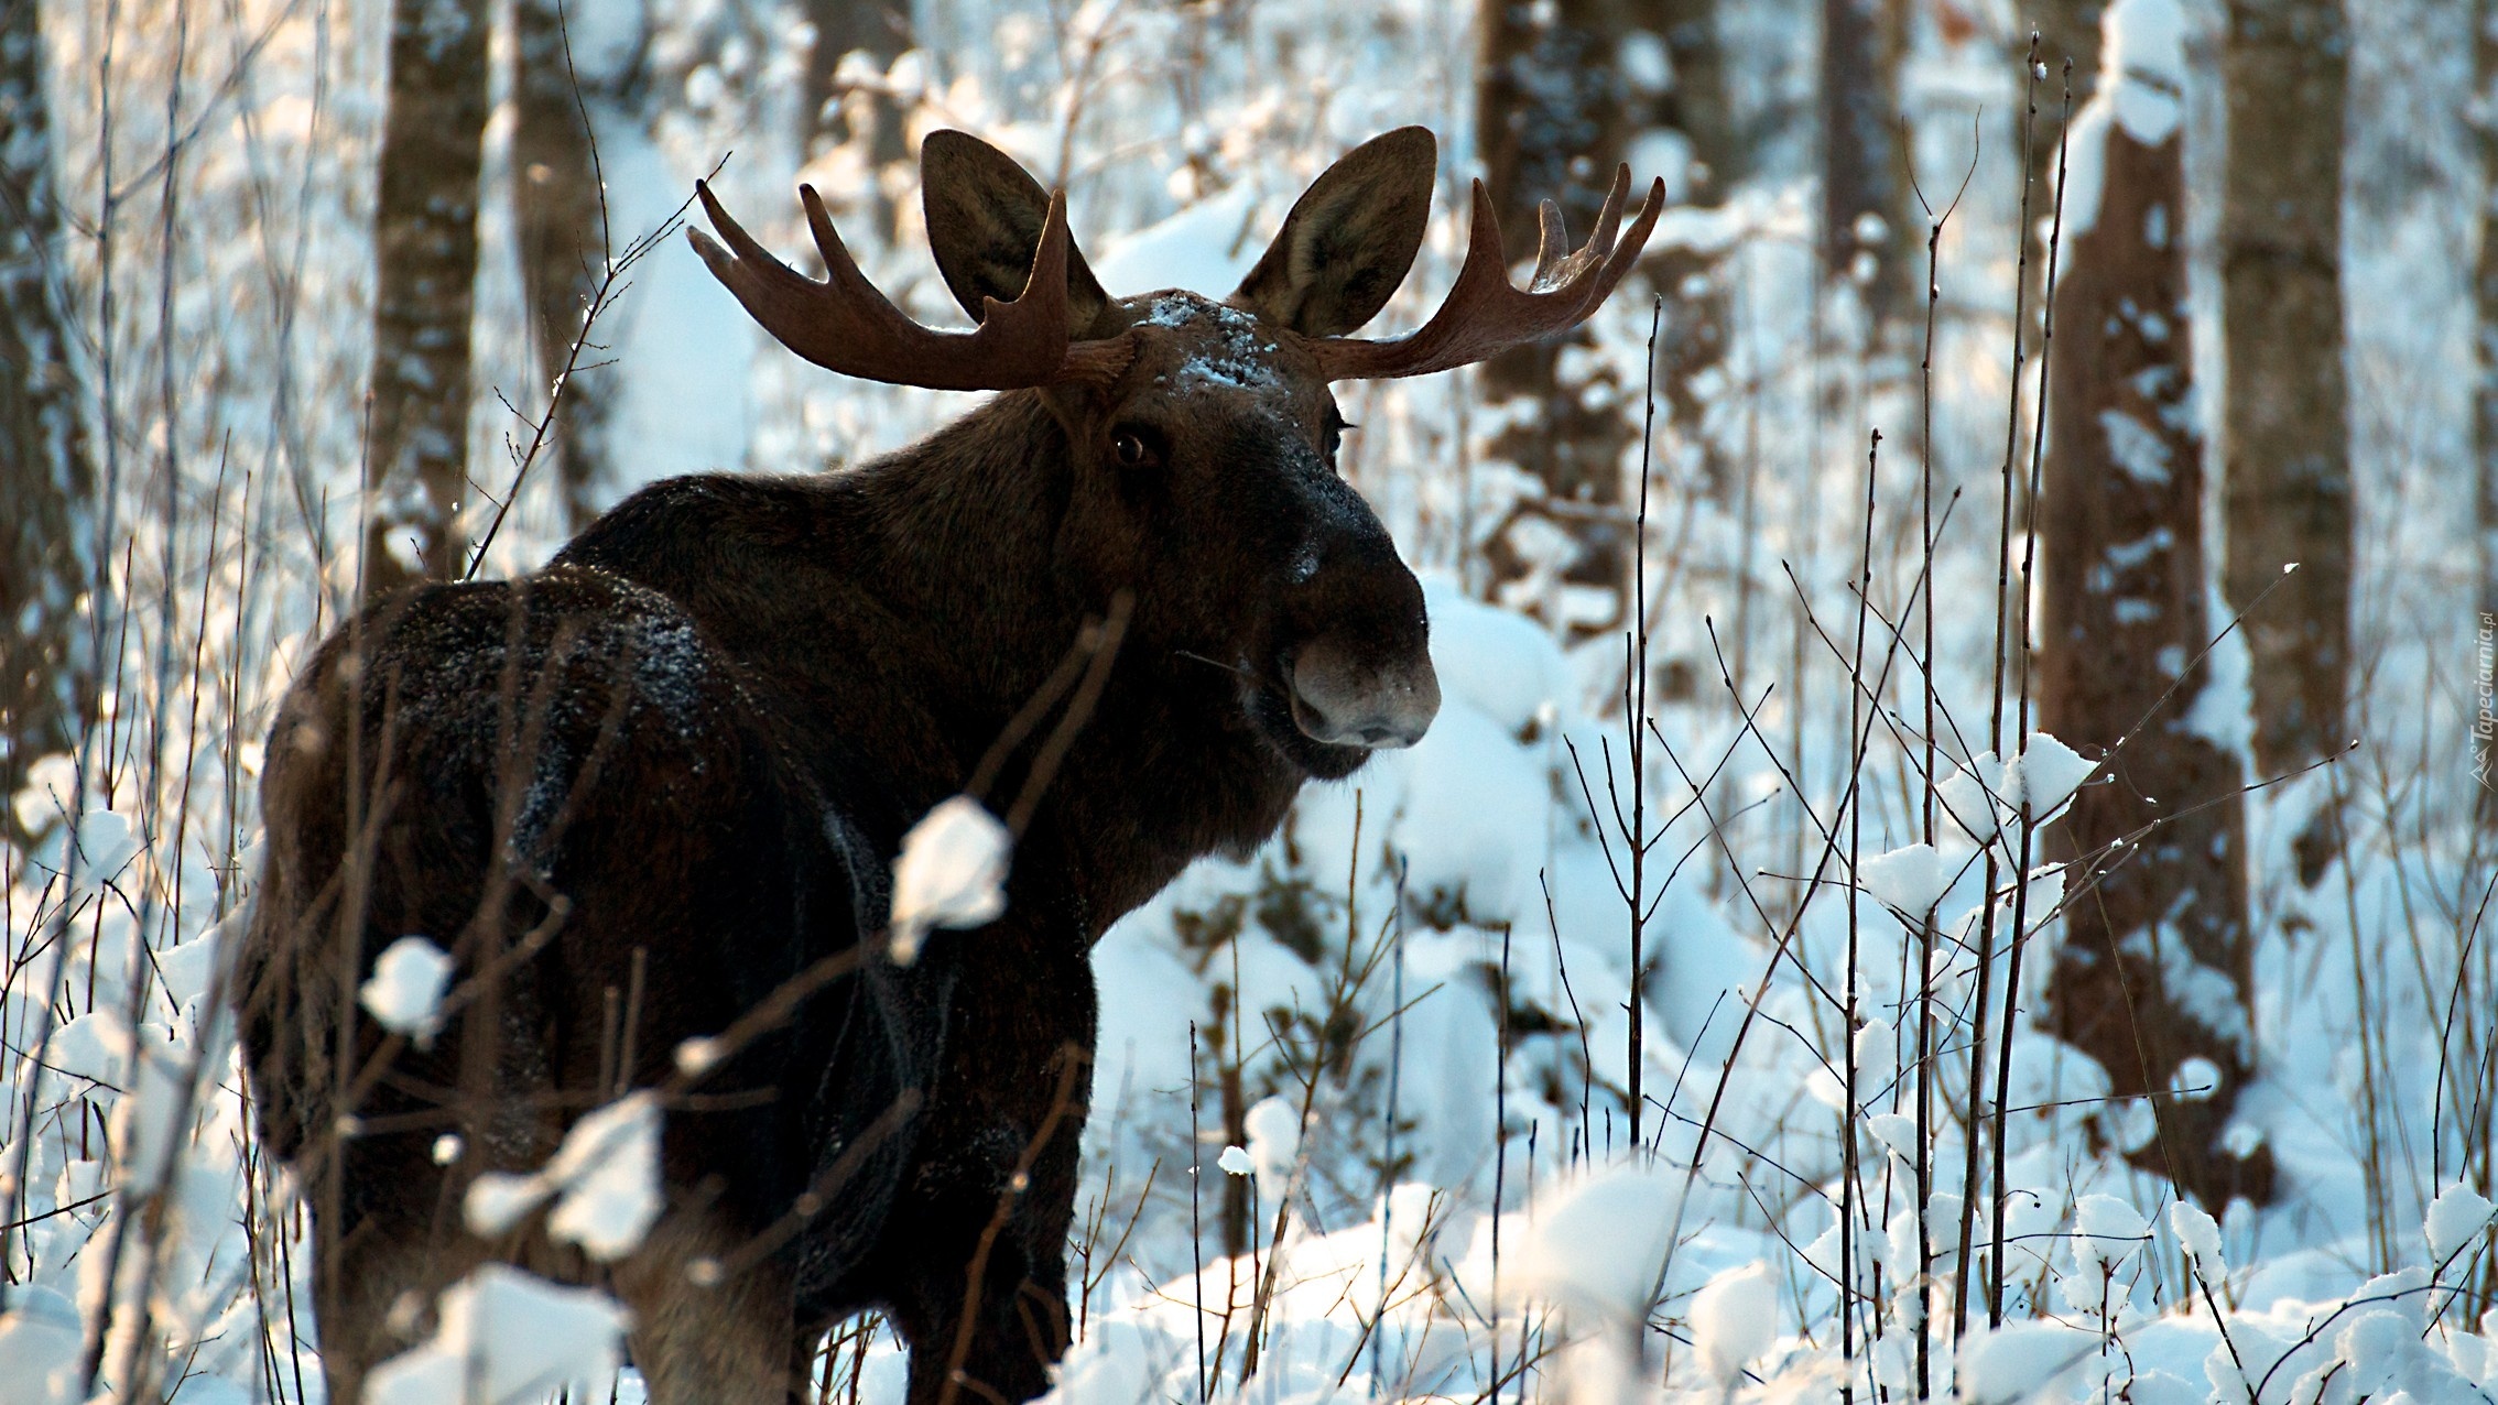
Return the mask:
<path id="1" fill-rule="evenodd" d="M 922 132 L 1222 294 L 1406 122 L 1381 327 L 1466 177 L 1674 210 L 1344 387 L 1449 704 L 1097 948 L 1059 1393 L 2498 1398 L 2493 85 L 2486 0 L 0 0 L 0 1403 L 322 1395 L 217 958 L 357 591 L 967 404 L 772 347 L 694 177 L 949 324 Z M 417 1365 L 637 1398 L 460 1293 Z"/>

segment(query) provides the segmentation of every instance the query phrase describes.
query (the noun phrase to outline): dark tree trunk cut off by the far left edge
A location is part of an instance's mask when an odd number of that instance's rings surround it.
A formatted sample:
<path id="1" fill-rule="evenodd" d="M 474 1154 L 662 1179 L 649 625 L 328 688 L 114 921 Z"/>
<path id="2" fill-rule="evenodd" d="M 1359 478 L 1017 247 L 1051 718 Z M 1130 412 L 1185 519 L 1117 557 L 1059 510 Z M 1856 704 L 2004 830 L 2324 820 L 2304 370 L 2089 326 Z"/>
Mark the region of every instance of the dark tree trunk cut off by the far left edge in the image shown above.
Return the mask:
<path id="1" fill-rule="evenodd" d="M 0 0 L 0 796 L 77 741 L 92 691 L 77 621 L 92 492 L 67 319 L 42 5 Z"/>

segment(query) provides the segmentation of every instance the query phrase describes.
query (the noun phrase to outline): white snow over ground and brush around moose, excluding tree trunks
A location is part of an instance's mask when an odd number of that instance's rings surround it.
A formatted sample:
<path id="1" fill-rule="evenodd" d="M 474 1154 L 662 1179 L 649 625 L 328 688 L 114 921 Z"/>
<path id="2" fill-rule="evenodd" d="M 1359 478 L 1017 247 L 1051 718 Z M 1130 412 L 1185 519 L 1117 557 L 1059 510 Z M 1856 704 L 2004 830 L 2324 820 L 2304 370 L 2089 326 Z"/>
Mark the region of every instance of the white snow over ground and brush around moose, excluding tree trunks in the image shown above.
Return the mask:
<path id="1" fill-rule="evenodd" d="M 120 674 L 85 786 L 52 759 L 10 796 L 42 841 L 10 851 L 5 883 L 0 1405 L 75 1403 L 90 1380 L 192 1405 L 322 1393 L 302 1215 L 245 1135 L 215 1013 L 217 951 L 250 901 L 270 706 L 352 581 L 342 552 L 357 542 L 362 227 L 385 25 L 367 0 L 215 10 L 45 7 L 57 157 L 80 212 L 67 275 L 85 369 L 112 384 L 100 412 L 120 494 L 107 547 L 127 564 L 112 571 L 120 604 L 105 606 Z M 1524 489 L 1484 459 L 1499 424 L 1474 377 L 1346 387 L 1361 424 L 1346 472 L 1431 581 L 1446 706 L 1421 746 L 1314 786 L 1264 851 L 1202 863 L 1102 941 L 1074 1245 L 1082 1340 L 1062 1398 L 1901 1398 L 1916 1390 L 1921 1318 L 1926 1380 L 1966 1400 L 2498 1398 L 2483 1198 L 2498 1046 L 2483 923 L 2498 858 L 2468 824 L 2466 756 L 2481 666 L 2468 5 L 2351 5 L 2361 746 L 2248 801 L 2261 1078 L 2233 1135 L 2273 1148 L 2283 1193 L 2213 1215 L 2178 1203 L 2121 1160 L 2148 1116 L 2111 1103 L 2106 1073 L 2023 1016 L 2001 1096 L 2013 1108 L 2001 1183 L 1978 1158 L 1978 1193 L 2006 1205 L 2001 1250 L 1978 1213 L 1986 1263 L 1971 1265 L 1966 1335 L 1951 1300 L 1966 1086 L 1971 1053 L 1991 1068 L 2003 1038 L 1998 1018 L 1971 1048 L 1978 971 L 1963 941 L 1988 903 L 1986 846 L 2003 873 L 1991 991 L 2013 961 L 2023 996 L 2043 988 L 2053 913 L 2073 896 L 2063 873 L 2033 871 L 2026 941 L 2006 941 L 2021 836 L 1981 816 L 2021 794 L 2043 811 L 2088 774 L 2018 729 L 2001 746 L 2026 751 L 2016 774 L 1971 756 L 1986 749 L 1993 654 L 1991 604 L 1971 601 L 1993 601 L 2013 397 L 2013 7 L 1951 5 L 1981 22 L 1958 42 L 1938 17 L 1916 25 L 1906 90 L 1926 190 L 1956 187 L 1973 165 L 1941 242 L 1928 447 L 1936 479 L 1961 492 L 1931 571 L 1943 601 L 1933 684 L 1953 721 L 1938 781 L 1961 826 L 1916 843 L 1911 721 L 1926 684 L 1901 656 L 1881 696 L 1896 731 L 1874 726 L 1861 766 L 1854 901 L 1846 839 L 1824 834 L 1851 784 L 1849 669 L 1816 626 L 1844 649 L 1856 619 L 1846 581 L 1876 427 L 1871 601 L 1913 619 L 1921 599 L 1916 357 L 1864 357 L 1854 299 L 1816 292 L 1819 7 L 1736 10 L 1729 82 L 1779 135 L 1724 210 L 1676 210 L 1659 235 L 1726 250 L 1734 344 L 1704 387 L 1701 424 L 1659 409 L 1644 524 L 1654 731 L 1636 771 L 1621 641 L 1564 651 L 1521 614 L 1569 616 L 1551 574 L 1481 599 L 1484 537 Z M 2178 15 L 2186 237 L 2196 309 L 2213 317 L 2218 5 Z M 917 22 L 927 52 L 857 77 L 899 95 L 914 130 L 977 130 L 1064 182 L 1112 292 L 1227 292 L 1244 250 L 1326 160 L 1411 120 L 1444 137 L 1444 217 L 1381 324 L 1414 324 L 1456 265 L 1456 200 L 1474 170 L 1471 5 L 924 0 Z M 595 77 L 637 65 L 634 107 L 597 107 L 620 240 L 657 230 L 729 152 L 724 197 L 792 247 L 792 177 L 814 180 L 837 212 L 892 180 L 902 230 L 892 247 L 854 235 L 862 265 L 917 314 L 952 314 L 912 227 L 909 172 L 867 170 L 857 150 L 809 160 L 789 137 L 804 42 L 789 15 L 585 0 L 577 25 Z M 500 117 L 490 182 L 507 180 L 507 132 Z M 180 195 L 170 247 L 167 170 Z M 502 494 L 512 419 L 487 387 L 530 412 L 537 402 L 507 210 L 490 202 L 482 227 L 472 439 L 482 487 Z M 1609 369 L 1636 394 L 1646 334 L 1646 299 L 1616 297 L 1571 374 Z M 769 349 L 677 242 L 637 265 L 600 339 L 622 384 L 615 494 L 689 469 L 857 459 L 962 407 L 837 382 Z M 2213 387 L 2218 337 L 2201 349 Z M 2218 417 L 2216 394 L 2201 404 Z M 490 566 L 527 569 L 560 534 L 552 484 L 532 482 Z M 1876 621 L 1869 679 L 1883 654 Z M 2243 709 L 2243 691 L 2206 694 L 2216 731 L 2231 699 Z M 1634 786 L 1649 846 L 1636 891 L 1616 821 Z M 2341 856 L 2301 883 L 2296 836 L 2333 804 Z M 932 858 L 947 856 L 939 839 Z M 924 876 L 939 913 L 927 941 L 977 941 L 944 931 L 942 913 L 977 911 L 979 893 L 957 888 L 977 888 L 979 868 Z M 1646 913 L 1636 966 L 1634 906 Z M 1943 936 L 1928 986 L 1943 1053 L 1921 1128 L 1916 931 L 1928 906 Z M 417 1033 L 435 993 L 425 953 L 407 951 L 365 998 Z M 552 1200 L 590 1253 L 629 1243 L 647 1223 L 652 1116 L 627 1098 L 585 1121 L 542 1175 L 472 1198 L 472 1223 Z M 1926 1205 L 1913 1203 L 1918 1163 L 1931 1165 Z M 1224 1253 L 1227 1233 L 1242 1253 Z M 1998 1303 L 1988 1270 L 2006 1285 Z M 492 1400 L 567 1380 L 610 1390 L 610 1300 L 517 1273 L 460 1293 L 440 1305 L 440 1333 L 377 1378 L 382 1395 L 445 1400 L 462 1378 Z M 470 1375 L 477 1363 L 487 1370 Z M 834 1390 L 857 1380 L 862 1400 L 902 1398 L 889 1335 L 837 1338 L 827 1370 Z M 629 1373 L 622 1390 L 637 1390 Z"/>

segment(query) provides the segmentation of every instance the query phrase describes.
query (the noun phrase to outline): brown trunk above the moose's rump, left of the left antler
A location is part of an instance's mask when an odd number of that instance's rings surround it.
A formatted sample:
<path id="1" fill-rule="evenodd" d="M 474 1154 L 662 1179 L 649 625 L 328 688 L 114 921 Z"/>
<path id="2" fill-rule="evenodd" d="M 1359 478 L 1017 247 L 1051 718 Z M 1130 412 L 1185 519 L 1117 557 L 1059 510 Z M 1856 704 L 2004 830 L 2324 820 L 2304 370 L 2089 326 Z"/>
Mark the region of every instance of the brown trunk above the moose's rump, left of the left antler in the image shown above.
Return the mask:
<path id="1" fill-rule="evenodd" d="M 375 212 L 365 591 L 452 579 L 467 539 L 470 307 L 485 147 L 485 0 L 392 0 Z"/>

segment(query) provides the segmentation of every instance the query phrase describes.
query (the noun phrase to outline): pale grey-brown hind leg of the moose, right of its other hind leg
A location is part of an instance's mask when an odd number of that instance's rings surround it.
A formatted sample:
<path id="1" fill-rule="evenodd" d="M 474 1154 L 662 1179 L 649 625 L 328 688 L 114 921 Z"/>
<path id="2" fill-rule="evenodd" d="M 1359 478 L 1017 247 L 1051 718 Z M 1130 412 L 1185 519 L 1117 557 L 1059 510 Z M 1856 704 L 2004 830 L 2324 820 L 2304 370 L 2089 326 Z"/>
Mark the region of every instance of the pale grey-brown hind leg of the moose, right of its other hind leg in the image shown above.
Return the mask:
<path id="1" fill-rule="evenodd" d="M 804 1393 L 779 1258 L 722 1270 L 752 1235 L 707 1210 L 664 1218 L 615 1270 L 632 1308 L 632 1360 L 652 1405 L 784 1405 Z"/>

